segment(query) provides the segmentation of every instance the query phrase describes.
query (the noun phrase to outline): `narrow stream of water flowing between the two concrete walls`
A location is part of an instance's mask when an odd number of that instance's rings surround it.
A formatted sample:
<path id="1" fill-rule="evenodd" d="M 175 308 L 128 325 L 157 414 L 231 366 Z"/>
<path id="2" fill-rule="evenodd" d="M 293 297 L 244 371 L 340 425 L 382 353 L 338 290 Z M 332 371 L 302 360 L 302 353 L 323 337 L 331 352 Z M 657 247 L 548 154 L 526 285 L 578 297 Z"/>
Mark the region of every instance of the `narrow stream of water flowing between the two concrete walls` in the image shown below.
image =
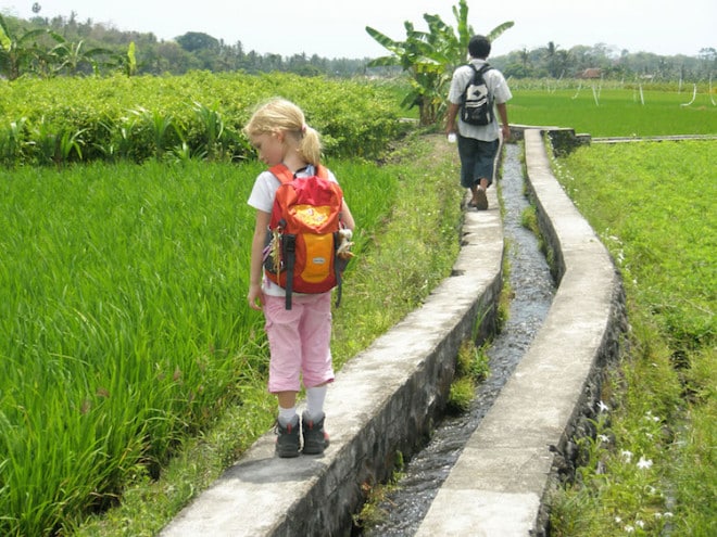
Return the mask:
<path id="1" fill-rule="evenodd" d="M 508 319 L 487 350 L 490 376 L 476 389 L 467 412 L 446 417 L 428 445 L 403 470 L 395 490 L 376 509 L 381 522 L 355 535 L 366 537 L 412 536 L 420 526 L 431 501 L 501 388 L 530 346 L 553 301 L 555 291 L 545 257 L 533 233 L 520 223 L 528 206 L 524 195 L 520 148 L 506 144 L 503 177 L 500 180 L 505 207 L 503 230 L 510 259 L 508 281 L 513 290 Z"/>

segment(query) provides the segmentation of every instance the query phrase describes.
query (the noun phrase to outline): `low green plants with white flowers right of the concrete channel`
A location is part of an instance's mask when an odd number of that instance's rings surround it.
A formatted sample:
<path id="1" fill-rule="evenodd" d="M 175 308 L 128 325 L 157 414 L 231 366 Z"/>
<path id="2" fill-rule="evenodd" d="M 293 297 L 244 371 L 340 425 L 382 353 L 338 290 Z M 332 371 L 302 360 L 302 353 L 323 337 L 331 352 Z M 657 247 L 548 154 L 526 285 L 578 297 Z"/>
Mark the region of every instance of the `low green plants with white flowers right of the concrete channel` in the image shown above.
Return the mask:
<path id="1" fill-rule="evenodd" d="M 555 172 L 624 274 L 630 357 L 582 440 L 555 535 L 712 535 L 717 495 L 714 141 L 599 145 Z"/>

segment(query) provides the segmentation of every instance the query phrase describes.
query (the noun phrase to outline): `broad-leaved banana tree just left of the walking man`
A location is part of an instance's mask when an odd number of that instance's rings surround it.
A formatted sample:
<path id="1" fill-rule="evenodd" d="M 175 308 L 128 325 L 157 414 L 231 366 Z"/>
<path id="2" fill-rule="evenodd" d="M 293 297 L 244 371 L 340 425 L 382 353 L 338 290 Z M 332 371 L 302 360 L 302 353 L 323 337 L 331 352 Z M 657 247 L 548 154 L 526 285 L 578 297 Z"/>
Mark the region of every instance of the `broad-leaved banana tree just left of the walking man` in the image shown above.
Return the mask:
<path id="1" fill-rule="evenodd" d="M 369 66 L 400 65 L 411 75 L 411 91 L 403 100 L 407 107 L 418 106 L 422 126 L 435 125 L 445 112 L 445 95 L 453 69 L 465 62 L 468 41 L 475 34 L 468 25 L 468 5 L 461 0 L 453 7 L 457 31 L 445 24 L 439 15 L 424 14 L 428 31 L 418 31 L 405 22 L 406 40 L 397 41 L 370 26 L 366 31 L 390 55 L 369 62 Z M 488 38 L 493 40 L 513 26 L 506 22 L 493 28 Z"/>

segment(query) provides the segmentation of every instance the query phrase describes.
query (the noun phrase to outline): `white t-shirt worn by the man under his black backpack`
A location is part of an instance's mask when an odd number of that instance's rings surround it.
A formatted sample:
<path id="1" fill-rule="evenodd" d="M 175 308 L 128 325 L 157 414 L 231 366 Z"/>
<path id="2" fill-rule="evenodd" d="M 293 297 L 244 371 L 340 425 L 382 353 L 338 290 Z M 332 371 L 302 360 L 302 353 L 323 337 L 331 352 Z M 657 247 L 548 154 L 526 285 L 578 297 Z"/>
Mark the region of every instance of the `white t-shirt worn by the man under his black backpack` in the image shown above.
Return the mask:
<path id="1" fill-rule="evenodd" d="M 471 59 L 470 63 L 475 65 L 477 69 L 480 69 L 486 61 Z M 473 79 L 473 75 L 474 71 L 468 65 L 462 65 L 453 72 L 451 89 L 449 90 L 449 101 L 451 103 L 461 104 L 461 97 L 466 89 L 466 86 L 468 86 L 468 82 Z M 500 71 L 495 68 L 489 69 L 483 73 L 483 78 L 486 79 L 488 91 L 493 95 L 495 104 L 503 104 L 513 98 L 513 93 L 511 93 L 505 77 Z M 495 115 L 489 125 L 481 126 L 464 123 L 461 120 L 461 115 L 458 114 L 458 132 L 465 138 L 475 138 L 476 140 L 483 140 L 487 142 L 496 140 L 500 132 L 498 115 Z"/>

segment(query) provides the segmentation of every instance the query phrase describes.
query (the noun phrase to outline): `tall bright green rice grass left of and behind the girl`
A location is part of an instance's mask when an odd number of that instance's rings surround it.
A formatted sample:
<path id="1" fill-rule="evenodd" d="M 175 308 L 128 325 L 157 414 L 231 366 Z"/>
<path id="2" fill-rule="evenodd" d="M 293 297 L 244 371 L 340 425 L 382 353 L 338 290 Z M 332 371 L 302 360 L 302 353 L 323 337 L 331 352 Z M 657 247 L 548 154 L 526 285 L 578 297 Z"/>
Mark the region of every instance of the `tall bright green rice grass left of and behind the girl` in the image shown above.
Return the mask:
<path id="1" fill-rule="evenodd" d="M 342 181 L 357 253 L 395 192 L 365 167 Z M 0 172 L 0 534 L 51 535 L 112 504 L 241 405 L 266 368 L 246 301 L 260 169 Z"/>

